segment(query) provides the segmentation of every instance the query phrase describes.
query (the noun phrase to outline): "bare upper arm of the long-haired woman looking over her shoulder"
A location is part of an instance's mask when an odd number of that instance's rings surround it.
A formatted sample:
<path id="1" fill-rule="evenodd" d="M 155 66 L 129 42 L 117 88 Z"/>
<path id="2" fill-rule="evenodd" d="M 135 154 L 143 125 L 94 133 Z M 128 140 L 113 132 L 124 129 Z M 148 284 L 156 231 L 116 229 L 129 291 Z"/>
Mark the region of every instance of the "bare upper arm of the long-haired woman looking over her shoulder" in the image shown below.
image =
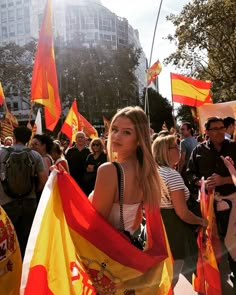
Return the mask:
<path id="1" fill-rule="evenodd" d="M 98 168 L 93 195 L 90 200 L 93 207 L 108 219 L 112 205 L 118 192 L 118 181 L 115 167 L 112 163 L 105 163 Z"/>

